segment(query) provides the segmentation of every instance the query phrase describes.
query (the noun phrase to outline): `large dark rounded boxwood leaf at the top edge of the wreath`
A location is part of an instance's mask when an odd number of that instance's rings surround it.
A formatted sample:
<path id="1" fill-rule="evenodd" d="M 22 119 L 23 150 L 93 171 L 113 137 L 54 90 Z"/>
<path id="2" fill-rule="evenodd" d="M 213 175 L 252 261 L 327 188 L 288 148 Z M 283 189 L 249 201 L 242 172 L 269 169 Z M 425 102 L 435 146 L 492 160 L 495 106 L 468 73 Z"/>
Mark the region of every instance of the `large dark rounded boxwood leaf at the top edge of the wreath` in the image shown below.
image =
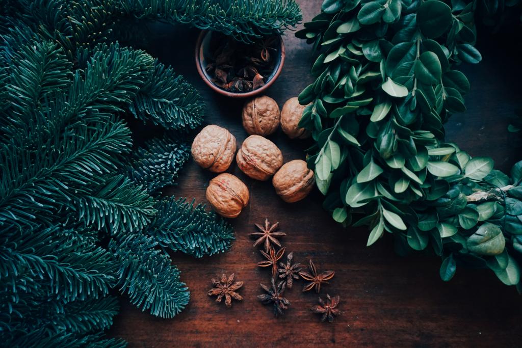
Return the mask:
<path id="1" fill-rule="evenodd" d="M 429 39 L 440 37 L 451 23 L 452 9 L 441 1 L 426 1 L 417 10 L 417 25 Z"/>

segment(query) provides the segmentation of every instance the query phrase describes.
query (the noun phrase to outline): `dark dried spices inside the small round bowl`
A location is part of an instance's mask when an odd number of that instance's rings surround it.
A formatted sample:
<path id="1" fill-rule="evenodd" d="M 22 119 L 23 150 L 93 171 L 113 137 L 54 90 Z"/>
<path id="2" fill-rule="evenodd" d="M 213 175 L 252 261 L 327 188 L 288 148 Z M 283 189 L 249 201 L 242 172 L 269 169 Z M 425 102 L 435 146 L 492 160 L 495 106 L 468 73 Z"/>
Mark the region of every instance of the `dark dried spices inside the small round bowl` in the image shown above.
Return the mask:
<path id="1" fill-rule="evenodd" d="M 270 35 L 255 43 L 243 43 L 213 33 L 205 68 L 215 85 L 242 93 L 262 87 L 276 65 L 279 37 Z"/>

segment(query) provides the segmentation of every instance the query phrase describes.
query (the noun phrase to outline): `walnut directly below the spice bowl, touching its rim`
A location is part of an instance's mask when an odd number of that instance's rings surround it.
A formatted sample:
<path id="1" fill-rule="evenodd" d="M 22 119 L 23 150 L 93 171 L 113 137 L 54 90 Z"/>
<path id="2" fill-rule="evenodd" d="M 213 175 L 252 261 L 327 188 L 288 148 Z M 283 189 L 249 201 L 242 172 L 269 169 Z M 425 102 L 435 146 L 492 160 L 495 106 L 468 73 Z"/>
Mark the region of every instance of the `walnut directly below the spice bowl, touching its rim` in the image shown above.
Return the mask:
<path id="1" fill-rule="evenodd" d="M 249 100 L 243 106 L 243 128 L 246 133 L 267 136 L 279 127 L 279 106 L 266 95 Z"/>

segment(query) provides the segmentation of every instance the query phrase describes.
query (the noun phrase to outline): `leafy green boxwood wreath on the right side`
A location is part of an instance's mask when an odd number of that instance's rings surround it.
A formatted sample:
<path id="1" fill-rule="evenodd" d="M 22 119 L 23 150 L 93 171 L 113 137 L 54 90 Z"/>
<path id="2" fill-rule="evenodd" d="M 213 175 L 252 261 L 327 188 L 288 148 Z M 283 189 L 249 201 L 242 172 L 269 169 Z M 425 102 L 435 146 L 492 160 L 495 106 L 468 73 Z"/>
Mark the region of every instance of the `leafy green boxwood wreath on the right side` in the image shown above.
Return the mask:
<path id="1" fill-rule="evenodd" d="M 509 6 L 519 13 L 517 1 L 325 0 L 296 36 L 321 52 L 300 125 L 334 220 L 369 226 L 368 246 L 386 231 L 400 255 L 431 249 L 444 281 L 457 265 L 489 268 L 520 291 L 522 161 L 506 175 L 443 127 L 466 110 L 455 66 L 481 60 L 475 17 L 492 24 Z"/>

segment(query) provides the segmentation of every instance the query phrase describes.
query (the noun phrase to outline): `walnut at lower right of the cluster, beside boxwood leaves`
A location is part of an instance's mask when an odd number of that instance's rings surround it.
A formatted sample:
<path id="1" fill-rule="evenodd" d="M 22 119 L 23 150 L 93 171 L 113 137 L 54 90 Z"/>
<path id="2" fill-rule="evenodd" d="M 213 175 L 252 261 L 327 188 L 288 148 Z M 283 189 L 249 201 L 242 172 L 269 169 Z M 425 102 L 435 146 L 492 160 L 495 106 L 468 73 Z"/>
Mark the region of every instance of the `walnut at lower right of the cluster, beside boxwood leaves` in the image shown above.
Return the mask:
<path id="1" fill-rule="evenodd" d="M 276 193 L 285 202 L 296 202 L 308 196 L 314 187 L 314 172 L 302 160 L 285 163 L 272 178 Z"/>

